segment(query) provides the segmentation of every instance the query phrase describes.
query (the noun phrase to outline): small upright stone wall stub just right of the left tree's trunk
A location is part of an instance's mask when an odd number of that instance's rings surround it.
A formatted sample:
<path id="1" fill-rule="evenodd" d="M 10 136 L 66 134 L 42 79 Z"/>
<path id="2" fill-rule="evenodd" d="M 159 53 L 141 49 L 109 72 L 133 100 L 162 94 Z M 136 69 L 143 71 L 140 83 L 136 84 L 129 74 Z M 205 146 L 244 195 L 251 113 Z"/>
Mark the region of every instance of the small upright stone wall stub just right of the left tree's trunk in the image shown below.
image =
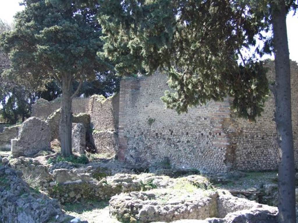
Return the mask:
<path id="1" fill-rule="evenodd" d="M 85 153 L 86 128 L 84 123 L 72 124 L 72 151 L 80 154 Z"/>

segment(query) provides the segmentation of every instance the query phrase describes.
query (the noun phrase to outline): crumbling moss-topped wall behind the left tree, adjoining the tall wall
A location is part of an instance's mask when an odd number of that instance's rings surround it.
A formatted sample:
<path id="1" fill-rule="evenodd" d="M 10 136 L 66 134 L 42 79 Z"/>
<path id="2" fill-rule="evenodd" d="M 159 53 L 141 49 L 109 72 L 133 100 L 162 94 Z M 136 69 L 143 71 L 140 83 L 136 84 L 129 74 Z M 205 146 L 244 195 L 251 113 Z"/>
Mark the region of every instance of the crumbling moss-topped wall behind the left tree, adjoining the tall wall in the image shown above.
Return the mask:
<path id="1" fill-rule="evenodd" d="M 51 127 L 52 139 L 59 139 L 61 99 L 39 99 L 32 106 L 32 116 L 46 120 Z M 115 155 L 118 150 L 119 95 L 105 98 L 93 95 L 90 98 L 74 98 L 72 101 L 73 123 L 80 123 L 77 115 L 90 115 L 90 126 L 85 125 L 87 140 L 97 153 Z M 83 122 L 85 123 L 85 122 Z M 85 123 L 86 124 L 86 123 Z"/>

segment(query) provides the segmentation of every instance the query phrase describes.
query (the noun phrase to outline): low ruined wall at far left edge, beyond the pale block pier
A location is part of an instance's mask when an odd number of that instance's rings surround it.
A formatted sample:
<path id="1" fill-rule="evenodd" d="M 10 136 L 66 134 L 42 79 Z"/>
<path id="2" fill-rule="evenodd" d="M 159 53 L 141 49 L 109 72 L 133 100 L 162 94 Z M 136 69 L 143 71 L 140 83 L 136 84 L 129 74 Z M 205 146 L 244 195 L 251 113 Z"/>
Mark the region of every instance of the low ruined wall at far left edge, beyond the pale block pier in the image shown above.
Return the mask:
<path id="1" fill-rule="evenodd" d="M 4 127 L 0 132 L 0 151 L 9 151 L 11 147 L 11 139 L 18 137 L 20 125 L 14 125 L 11 127 Z"/>

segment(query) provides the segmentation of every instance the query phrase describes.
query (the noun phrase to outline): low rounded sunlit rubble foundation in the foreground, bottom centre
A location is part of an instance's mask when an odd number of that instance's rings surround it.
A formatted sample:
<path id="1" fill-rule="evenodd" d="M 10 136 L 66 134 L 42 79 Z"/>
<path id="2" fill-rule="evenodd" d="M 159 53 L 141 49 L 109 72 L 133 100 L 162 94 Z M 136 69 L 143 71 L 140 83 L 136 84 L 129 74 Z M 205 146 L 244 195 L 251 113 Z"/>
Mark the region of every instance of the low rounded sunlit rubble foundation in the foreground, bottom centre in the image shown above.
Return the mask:
<path id="1" fill-rule="evenodd" d="M 193 192 L 158 189 L 119 194 L 111 198 L 109 207 L 110 214 L 121 222 L 173 222 L 179 219 L 206 219 L 202 222 L 277 222 L 275 207 L 231 195 L 218 196 L 217 192 L 199 189 Z M 194 220 L 181 222 L 188 221 Z"/>

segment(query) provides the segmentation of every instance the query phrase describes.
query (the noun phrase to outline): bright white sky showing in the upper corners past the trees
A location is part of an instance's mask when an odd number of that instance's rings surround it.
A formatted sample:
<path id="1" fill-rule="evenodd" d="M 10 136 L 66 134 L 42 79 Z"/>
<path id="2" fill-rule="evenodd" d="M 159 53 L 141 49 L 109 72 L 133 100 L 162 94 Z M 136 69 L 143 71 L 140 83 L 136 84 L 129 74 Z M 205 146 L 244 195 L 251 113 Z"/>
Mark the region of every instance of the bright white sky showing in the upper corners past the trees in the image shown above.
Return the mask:
<path id="1" fill-rule="evenodd" d="M 0 0 L 1 20 L 7 21 L 8 23 L 13 22 L 13 15 L 23 8 L 19 6 L 19 1 L 20 0 Z M 287 17 L 287 29 L 290 59 L 298 62 L 298 13 L 295 16 L 293 16 L 292 12 L 289 13 Z M 273 59 L 273 56 L 270 57 L 267 55 L 266 58 Z"/>

